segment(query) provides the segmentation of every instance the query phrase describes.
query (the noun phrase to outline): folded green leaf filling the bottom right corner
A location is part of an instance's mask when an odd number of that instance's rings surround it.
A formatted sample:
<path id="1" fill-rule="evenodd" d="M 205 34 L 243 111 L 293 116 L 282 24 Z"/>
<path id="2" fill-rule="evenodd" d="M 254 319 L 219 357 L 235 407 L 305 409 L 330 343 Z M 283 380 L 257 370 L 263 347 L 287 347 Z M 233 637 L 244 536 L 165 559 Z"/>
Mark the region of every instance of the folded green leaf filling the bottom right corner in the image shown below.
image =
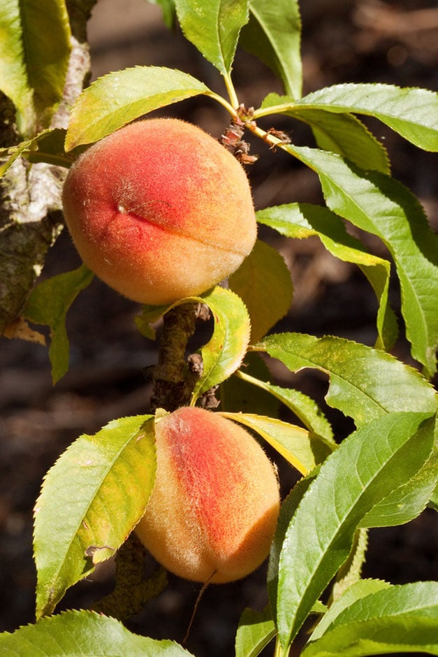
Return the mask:
<path id="1" fill-rule="evenodd" d="M 313 638 L 313 637 L 312 637 Z M 388 586 L 352 601 L 303 657 L 427 652 L 438 655 L 438 584 Z"/>

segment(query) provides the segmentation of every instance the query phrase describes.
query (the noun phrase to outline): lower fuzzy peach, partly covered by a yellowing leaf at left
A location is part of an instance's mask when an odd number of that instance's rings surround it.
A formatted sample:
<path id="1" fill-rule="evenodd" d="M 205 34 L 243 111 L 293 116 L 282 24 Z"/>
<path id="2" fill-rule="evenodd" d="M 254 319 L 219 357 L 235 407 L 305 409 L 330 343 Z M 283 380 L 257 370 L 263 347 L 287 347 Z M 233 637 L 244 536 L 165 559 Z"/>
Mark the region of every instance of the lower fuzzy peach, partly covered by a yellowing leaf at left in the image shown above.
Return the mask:
<path id="1" fill-rule="evenodd" d="M 198 407 L 156 422 L 156 481 L 136 533 L 168 570 L 232 582 L 268 556 L 279 513 L 275 468 L 241 426 Z"/>

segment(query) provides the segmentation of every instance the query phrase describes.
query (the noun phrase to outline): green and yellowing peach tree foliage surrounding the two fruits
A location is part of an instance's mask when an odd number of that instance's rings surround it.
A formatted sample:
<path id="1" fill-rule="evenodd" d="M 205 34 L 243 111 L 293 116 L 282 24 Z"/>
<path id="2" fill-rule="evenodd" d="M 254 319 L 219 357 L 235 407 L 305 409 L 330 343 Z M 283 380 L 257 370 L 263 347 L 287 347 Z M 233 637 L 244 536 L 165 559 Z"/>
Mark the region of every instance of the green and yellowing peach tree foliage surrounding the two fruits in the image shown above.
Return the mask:
<path id="1" fill-rule="evenodd" d="M 7 179 L 22 161 L 68 168 L 87 145 L 153 110 L 200 94 L 221 105 L 225 127 L 233 122 L 316 173 L 325 205 L 291 199 L 258 210 L 257 219 L 291 239 L 316 235 L 335 257 L 356 263 L 378 301 L 374 347 L 334 336 L 276 333 L 293 289 L 282 257 L 261 240 L 231 275 L 228 289 L 214 287 L 163 307 L 144 306 L 136 326 L 153 340 L 153 324 L 161 317 L 207 306 L 214 328 L 200 348 L 203 368 L 187 388 L 187 403 L 200 403 L 219 387 L 216 412 L 250 428 L 301 475 L 284 499 L 272 542 L 269 605 L 262 612 L 242 609 L 236 655 L 256 656 L 271 642 L 277 657 L 288 655 L 309 616 L 314 625 L 302 648 L 306 657 L 438 654 L 436 582 L 394 586 L 360 577 L 367 528 L 404 524 L 426 505 L 438 505 L 437 396 L 430 384 L 437 370 L 438 238 L 414 194 L 391 177 L 388 153 L 360 117 L 375 117 L 416 147 L 437 152 L 437 94 L 344 84 L 303 97 L 295 0 L 175 0 L 175 16 L 170 0 L 161 5 L 167 22 L 177 20 L 217 69 L 224 96 L 184 71 L 136 66 L 93 82 L 73 104 L 68 126 L 59 127 L 54 117 L 68 87 L 73 17 L 78 10 L 87 13 L 92 3 L 68 3 L 68 15 L 64 0 L 41 0 L 38 10 L 31 0 L 3 0 L 0 89 L 15 108 L 16 132 L 1 153 L 1 173 Z M 232 75 L 238 46 L 272 68 L 284 95 L 268 94 L 254 109 L 244 106 Z M 305 122 L 314 143 L 295 145 L 284 133 L 258 124 L 270 117 L 275 127 L 276 115 L 288 117 L 291 130 L 295 121 Z M 248 154 L 238 142 L 236 150 L 245 160 Z M 16 219 L 11 224 L 17 229 Z M 390 260 L 367 250 L 346 230 L 348 224 L 377 236 Z M 390 354 L 399 331 L 388 300 L 393 270 L 418 369 Z M 27 322 L 50 327 L 54 383 L 68 370 L 66 313 L 92 276 L 81 266 L 36 284 L 23 295 L 17 322 L 8 325 L 8 335 L 17 335 L 14 326 L 20 326 L 24 336 L 30 333 Z M 271 384 L 257 354 L 277 359 L 293 373 L 302 368 L 325 373 L 326 402 L 352 418 L 355 431 L 337 440 L 314 400 Z M 249 367 L 242 366 L 247 362 Z M 240 413 L 242 390 L 254 403 Z M 278 419 L 269 400 L 291 410 L 296 424 Z M 175 642 L 130 633 L 111 614 L 55 613 L 67 589 L 124 549 L 145 511 L 154 468 L 152 413 L 116 418 L 95 435 L 81 435 L 61 455 L 35 506 L 36 623 L 0 635 L 1 654 L 189 654 Z M 161 586 L 152 582 L 149 595 Z"/>

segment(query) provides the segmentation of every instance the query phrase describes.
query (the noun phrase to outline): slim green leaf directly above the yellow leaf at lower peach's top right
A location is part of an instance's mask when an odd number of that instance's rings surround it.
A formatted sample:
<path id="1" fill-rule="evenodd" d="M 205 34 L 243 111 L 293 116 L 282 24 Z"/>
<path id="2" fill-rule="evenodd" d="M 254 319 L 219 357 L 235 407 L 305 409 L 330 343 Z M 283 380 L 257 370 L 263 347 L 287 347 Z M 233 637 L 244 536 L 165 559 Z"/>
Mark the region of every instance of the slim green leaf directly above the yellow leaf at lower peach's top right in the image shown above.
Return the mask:
<path id="1" fill-rule="evenodd" d="M 236 376 L 275 396 L 279 401 L 284 403 L 289 410 L 295 413 L 309 431 L 316 433 L 316 435 L 320 435 L 321 438 L 325 438 L 327 442 L 331 442 L 333 446 L 335 446 L 330 422 L 323 414 L 319 405 L 316 404 L 312 398 L 299 390 L 282 388 L 266 381 L 262 381 L 251 376 L 247 370 L 239 370 L 236 373 Z"/>

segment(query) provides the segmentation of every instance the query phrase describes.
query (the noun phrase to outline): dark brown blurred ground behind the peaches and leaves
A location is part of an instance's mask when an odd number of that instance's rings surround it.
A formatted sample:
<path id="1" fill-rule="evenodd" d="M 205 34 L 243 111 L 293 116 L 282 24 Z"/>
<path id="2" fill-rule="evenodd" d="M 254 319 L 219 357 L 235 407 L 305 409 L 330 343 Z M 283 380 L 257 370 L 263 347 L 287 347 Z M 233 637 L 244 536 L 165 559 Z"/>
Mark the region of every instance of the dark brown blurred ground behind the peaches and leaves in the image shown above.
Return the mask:
<path id="1" fill-rule="evenodd" d="M 438 89 L 438 8 L 436 0 L 302 0 L 302 52 L 305 92 L 337 82 L 388 82 Z M 93 77 L 126 66 L 180 68 L 223 92 L 219 75 L 179 34 L 163 27 L 161 10 L 143 0 L 101 0 L 89 25 Z M 281 93 L 272 73 L 240 52 L 235 85 L 247 106 L 268 92 Z M 219 137 L 228 115 L 207 99 L 191 99 L 166 108 Z M 266 124 L 265 127 L 270 127 Z M 275 127 L 295 143 L 312 143 L 300 124 L 276 117 Z M 420 198 L 438 228 L 437 157 L 423 153 L 370 121 L 384 139 L 393 175 Z M 321 203 L 316 176 L 291 157 L 273 153 L 260 141 L 252 145 L 259 161 L 249 169 L 257 208 L 291 201 Z M 295 299 L 278 330 L 330 333 L 372 345 L 376 337 L 374 294 L 360 272 L 336 261 L 319 240 L 282 240 L 261 236 L 282 252 L 291 268 Z M 367 238 L 374 252 L 384 247 Z M 44 275 L 80 263 L 66 233 L 48 257 Z M 391 299 L 399 305 L 397 283 Z M 94 433 L 115 417 L 143 413 L 150 395 L 142 369 L 154 363 L 155 345 L 135 329 L 139 307 L 97 280 L 68 314 L 71 370 L 56 387 L 50 380 L 45 348 L 20 341 L 0 342 L 0 630 L 34 621 L 36 575 L 32 561 L 32 507 L 41 480 L 57 456 L 81 433 Z M 395 353 L 411 362 L 400 340 Z M 415 363 L 413 363 L 415 364 Z M 320 403 L 327 382 L 318 374 L 292 376 L 272 366 L 272 380 L 295 385 Z M 330 412 L 330 410 L 329 410 Z M 342 438 L 351 425 L 330 412 Z M 283 465 L 281 466 L 283 468 Z M 426 511 L 407 526 L 373 530 L 364 575 L 393 584 L 436 579 L 438 528 Z M 111 589 L 112 565 L 81 582 L 61 608 L 88 607 Z M 188 649 L 197 656 L 233 654 L 235 628 L 242 609 L 263 608 L 265 569 L 235 584 L 211 586 L 200 602 Z M 182 640 L 199 587 L 170 577 L 169 586 L 130 623 L 138 633 Z M 267 653 L 268 654 L 268 653 Z"/>

